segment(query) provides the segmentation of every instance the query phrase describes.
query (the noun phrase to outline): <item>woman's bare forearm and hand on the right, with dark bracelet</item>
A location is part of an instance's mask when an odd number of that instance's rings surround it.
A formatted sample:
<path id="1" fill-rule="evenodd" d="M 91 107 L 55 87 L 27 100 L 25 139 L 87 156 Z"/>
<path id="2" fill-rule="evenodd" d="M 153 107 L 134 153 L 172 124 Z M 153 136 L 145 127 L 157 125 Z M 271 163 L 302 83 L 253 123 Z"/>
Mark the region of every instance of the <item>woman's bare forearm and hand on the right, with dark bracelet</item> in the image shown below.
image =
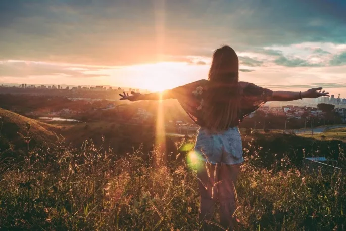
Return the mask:
<path id="1" fill-rule="evenodd" d="M 329 96 L 328 92 L 322 91 L 322 87 L 312 88 L 307 91 L 273 91 L 273 95 L 268 97 L 268 101 L 291 101 L 303 98 L 318 98 L 321 96 Z"/>

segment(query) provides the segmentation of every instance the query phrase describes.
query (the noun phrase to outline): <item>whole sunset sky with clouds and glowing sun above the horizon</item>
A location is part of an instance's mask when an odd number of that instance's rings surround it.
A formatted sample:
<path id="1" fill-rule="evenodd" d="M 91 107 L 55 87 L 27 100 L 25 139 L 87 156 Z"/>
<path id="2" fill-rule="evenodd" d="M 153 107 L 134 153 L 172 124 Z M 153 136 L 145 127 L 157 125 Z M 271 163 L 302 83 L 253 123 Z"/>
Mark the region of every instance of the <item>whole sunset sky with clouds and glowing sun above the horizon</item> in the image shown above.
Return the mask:
<path id="1" fill-rule="evenodd" d="M 346 98 L 344 0 L 3 0 L 0 82 L 169 89 L 206 79 L 213 51 L 273 90 Z"/>

